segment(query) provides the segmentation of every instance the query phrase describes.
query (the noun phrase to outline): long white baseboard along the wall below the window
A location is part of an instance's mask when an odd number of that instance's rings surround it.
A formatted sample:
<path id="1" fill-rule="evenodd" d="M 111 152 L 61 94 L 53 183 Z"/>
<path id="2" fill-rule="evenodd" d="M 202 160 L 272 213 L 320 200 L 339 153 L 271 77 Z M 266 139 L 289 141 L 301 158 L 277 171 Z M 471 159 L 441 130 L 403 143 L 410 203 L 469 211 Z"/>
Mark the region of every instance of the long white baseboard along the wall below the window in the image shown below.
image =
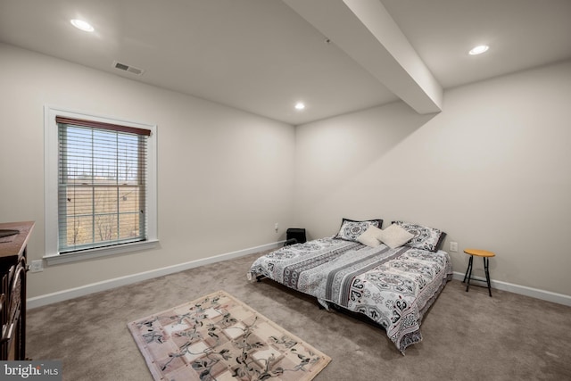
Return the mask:
<path id="1" fill-rule="evenodd" d="M 26 301 L 27 308 L 34 309 L 37 307 L 45 306 L 47 304 L 52 304 L 54 302 L 62 302 L 69 299 L 77 298 L 79 296 L 98 293 L 100 291 L 109 290 L 119 286 L 127 286 L 132 283 L 140 282 L 142 280 L 152 279 L 153 277 L 162 277 L 164 275 L 173 274 L 175 272 L 184 271 L 186 269 L 194 269 L 196 267 L 208 265 L 211 263 L 216 263 L 219 261 L 227 261 L 238 257 L 243 257 L 244 255 L 258 253 L 264 250 L 280 247 L 284 244 L 284 242 L 285 241 L 278 241 L 273 244 L 262 244 L 261 246 L 251 247 L 249 249 L 239 250 L 237 252 L 220 254 L 213 257 L 204 258 L 202 260 L 188 261 L 185 263 L 180 263 L 178 265 L 173 265 L 161 269 L 153 269 L 150 271 L 127 275 L 125 277 L 116 277 L 113 279 L 92 283 L 86 286 L 80 286 L 76 288 L 70 288 L 69 290 L 58 291 L 52 294 L 35 296 L 33 298 L 27 299 Z M 245 276 L 246 275 L 244 274 L 244 279 Z"/>

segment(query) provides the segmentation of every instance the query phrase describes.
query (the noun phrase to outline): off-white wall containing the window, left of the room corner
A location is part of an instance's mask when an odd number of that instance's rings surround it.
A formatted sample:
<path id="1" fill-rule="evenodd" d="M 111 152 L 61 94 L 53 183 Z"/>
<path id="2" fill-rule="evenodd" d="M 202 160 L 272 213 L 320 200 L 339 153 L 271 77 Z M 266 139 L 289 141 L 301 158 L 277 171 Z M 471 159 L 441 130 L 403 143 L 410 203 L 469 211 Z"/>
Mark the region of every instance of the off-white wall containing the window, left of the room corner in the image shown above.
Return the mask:
<path id="1" fill-rule="evenodd" d="M 44 254 L 44 105 L 158 126 L 160 247 L 29 273 L 29 297 L 285 239 L 294 127 L 4 44 L 0 68 L 0 221 L 36 221 L 30 261 Z"/>

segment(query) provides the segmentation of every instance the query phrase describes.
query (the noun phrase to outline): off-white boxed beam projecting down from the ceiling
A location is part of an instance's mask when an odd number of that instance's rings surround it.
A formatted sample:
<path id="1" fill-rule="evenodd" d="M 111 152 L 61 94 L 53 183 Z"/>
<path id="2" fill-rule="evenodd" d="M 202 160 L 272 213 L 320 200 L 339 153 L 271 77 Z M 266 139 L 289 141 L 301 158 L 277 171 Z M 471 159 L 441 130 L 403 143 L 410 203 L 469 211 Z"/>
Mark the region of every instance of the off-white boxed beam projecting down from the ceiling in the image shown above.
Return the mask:
<path id="1" fill-rule="evenodd" d="M 442 86 L 380 0 L 284 2 L 416 112 L 442 111 Z"/>

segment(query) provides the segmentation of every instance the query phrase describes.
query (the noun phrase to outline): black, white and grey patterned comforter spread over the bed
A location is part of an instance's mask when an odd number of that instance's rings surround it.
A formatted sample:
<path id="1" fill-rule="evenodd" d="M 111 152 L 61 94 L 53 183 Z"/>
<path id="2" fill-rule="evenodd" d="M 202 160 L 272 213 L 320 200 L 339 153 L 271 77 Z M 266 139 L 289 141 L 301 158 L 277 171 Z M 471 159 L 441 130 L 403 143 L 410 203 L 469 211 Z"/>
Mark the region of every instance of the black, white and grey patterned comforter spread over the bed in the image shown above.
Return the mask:
<path id="1" fill-rule="evenodd" d="M 404 354 L 422 340 L 423 313 L 451 279 L 448 253 L 385 244 L 369 247 L 333 237 L 293 244 L 254 261 L 249 278 L 264 276 L 319 302 L 367 315 Z"/>

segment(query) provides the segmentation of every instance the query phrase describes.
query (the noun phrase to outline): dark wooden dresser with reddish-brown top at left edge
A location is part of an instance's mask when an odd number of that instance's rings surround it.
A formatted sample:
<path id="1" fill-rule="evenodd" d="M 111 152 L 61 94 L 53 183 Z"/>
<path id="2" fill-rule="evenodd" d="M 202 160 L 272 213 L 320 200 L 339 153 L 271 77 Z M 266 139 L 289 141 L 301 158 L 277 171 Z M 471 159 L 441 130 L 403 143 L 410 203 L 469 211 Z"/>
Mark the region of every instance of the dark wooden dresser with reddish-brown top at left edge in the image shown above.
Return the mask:
<path id="1" fill-rule="evenodd" d="M 0 223 L 0 360 L 26 359 L 26 246 L 34 222 Z"/>

